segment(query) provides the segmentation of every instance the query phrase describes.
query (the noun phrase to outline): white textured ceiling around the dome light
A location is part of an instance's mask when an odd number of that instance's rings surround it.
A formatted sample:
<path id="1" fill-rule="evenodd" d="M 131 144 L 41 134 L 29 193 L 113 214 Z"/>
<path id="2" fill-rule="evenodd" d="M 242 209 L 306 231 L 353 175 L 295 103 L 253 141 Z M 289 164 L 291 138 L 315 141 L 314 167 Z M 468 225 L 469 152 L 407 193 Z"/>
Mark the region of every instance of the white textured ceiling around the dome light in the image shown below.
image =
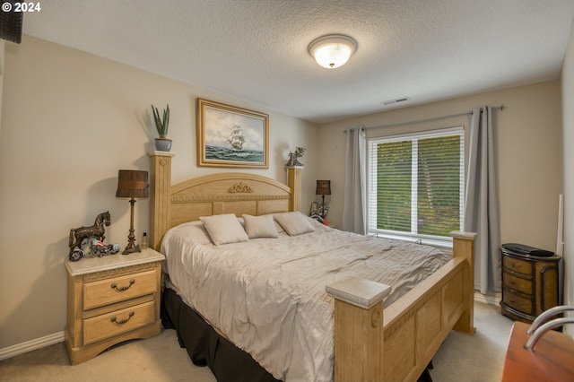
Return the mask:
<path id="1" fill-rule="evenodd" d="M 574 0 L 48 0 L 24 33 L 323 123 L 557 79 Z M 347 65 L 309 42 L 356 39 Z"/>

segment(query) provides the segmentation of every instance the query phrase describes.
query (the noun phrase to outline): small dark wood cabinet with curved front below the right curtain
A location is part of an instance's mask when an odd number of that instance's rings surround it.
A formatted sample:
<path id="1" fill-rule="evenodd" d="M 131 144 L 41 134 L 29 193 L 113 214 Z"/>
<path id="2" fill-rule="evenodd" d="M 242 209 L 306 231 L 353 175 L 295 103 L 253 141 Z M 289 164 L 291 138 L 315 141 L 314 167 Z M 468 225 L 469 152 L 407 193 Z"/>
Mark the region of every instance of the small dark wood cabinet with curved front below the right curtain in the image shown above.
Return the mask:
<path id="1" fill-rule="evenodd" d="M 560 256 L 525 256 L 506 248 L 502 253 L 502 314 L 532 322 L 558 305 Z"/>

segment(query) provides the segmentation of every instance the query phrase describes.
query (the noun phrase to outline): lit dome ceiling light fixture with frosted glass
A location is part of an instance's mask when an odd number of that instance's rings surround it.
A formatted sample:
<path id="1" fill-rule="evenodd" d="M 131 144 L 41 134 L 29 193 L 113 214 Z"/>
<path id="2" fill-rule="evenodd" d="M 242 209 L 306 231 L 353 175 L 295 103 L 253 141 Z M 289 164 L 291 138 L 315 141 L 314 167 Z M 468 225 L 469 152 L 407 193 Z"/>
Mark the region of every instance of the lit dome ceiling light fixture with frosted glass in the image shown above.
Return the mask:
<path id="1" fill-rule="evenodd" d="M 343 66 L 357 50 L 357 41 L 342 34 L 329 34 L 309 44 L 309 54 L 327 69 Z"/>

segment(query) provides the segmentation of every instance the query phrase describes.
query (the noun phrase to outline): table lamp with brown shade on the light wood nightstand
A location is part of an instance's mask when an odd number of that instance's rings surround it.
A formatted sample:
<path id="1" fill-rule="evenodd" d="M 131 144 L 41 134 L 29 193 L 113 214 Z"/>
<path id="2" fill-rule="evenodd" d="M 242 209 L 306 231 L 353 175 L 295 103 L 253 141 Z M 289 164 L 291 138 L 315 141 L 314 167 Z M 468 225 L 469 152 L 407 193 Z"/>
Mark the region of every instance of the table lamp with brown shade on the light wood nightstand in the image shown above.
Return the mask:
<path id="1" fill-rule="evenodd" d="M 149 187 L 150 185 L 147 182 L 147 171 L 120 169 L 117 174 L 116 197 L 129 197 L 129 203 L 132 205 L 129 235 L 127 235 L 127 247 L 124 252 L 122 252 L 123 255 L 142 252 L 140 246 L 135 245 L 134 204 L 135 198 L 144 198 L 149 196 Z"/>

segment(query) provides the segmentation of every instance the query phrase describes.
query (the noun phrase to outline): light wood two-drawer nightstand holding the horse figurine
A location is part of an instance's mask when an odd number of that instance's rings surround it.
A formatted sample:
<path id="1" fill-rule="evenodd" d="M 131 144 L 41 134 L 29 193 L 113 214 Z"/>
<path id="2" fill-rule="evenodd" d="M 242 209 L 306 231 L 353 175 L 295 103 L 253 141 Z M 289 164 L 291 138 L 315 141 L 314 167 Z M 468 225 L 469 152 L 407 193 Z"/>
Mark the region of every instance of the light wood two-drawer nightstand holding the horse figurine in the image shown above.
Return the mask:
<path id="1" fill-rule="evenodd" d="M 153 249 L 65 261 L 65 346 L 74 365 L 116 343 L 161 333 L 161 261 Z"/>

